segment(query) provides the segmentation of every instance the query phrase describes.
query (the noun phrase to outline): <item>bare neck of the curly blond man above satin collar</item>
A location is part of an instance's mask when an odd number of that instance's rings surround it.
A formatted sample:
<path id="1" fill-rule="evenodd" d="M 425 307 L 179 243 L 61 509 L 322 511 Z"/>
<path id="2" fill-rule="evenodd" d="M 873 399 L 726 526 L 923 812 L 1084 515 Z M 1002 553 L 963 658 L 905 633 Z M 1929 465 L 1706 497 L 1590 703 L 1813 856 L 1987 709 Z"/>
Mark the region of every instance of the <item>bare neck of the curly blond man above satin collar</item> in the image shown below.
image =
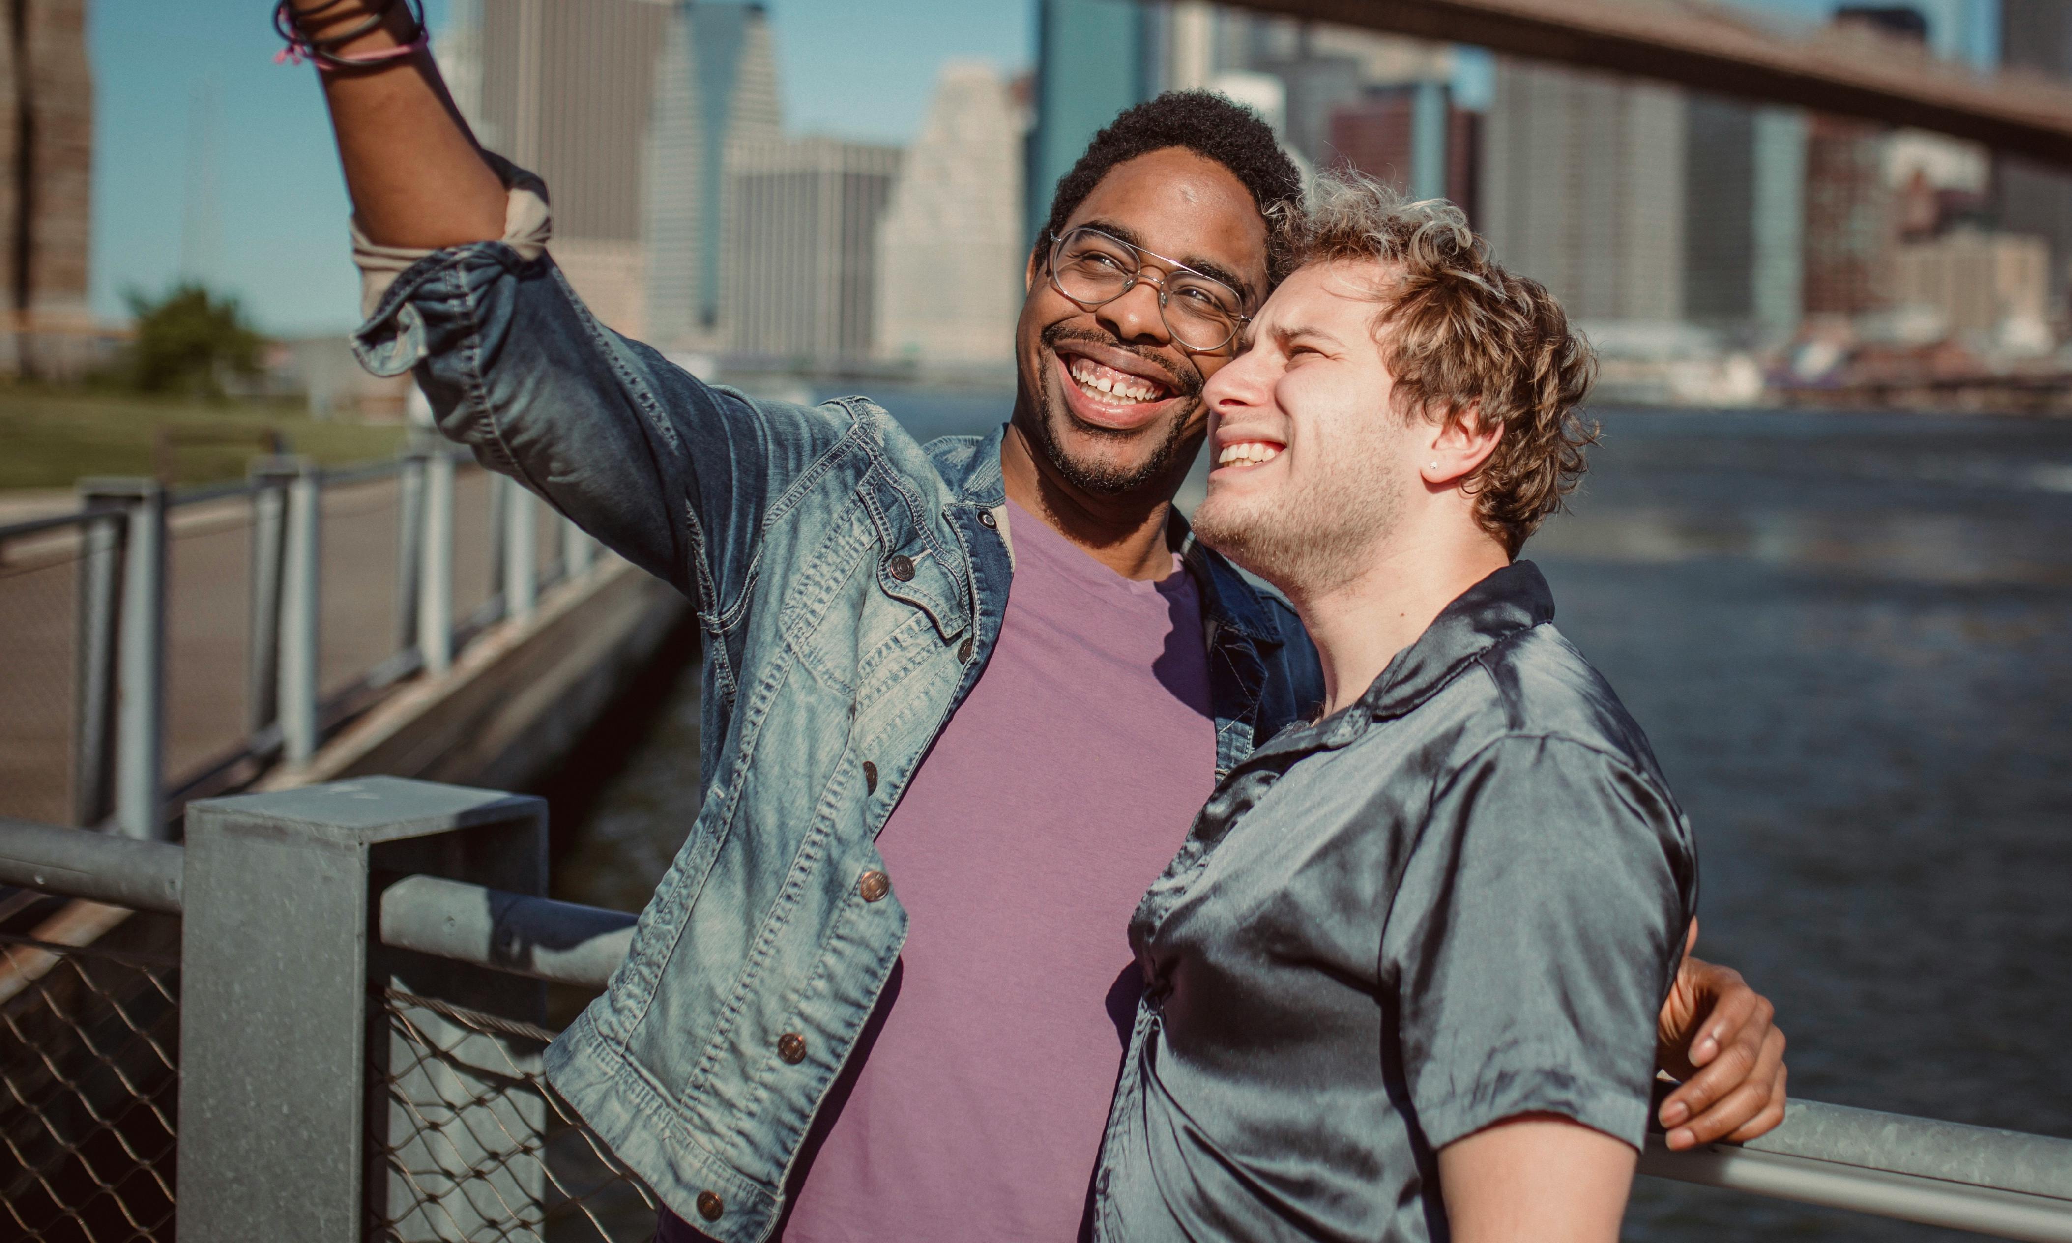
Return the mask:
<path id="1" fill-rule="evenodd" d="M 1324 713 L 1357 700 L 1388 661 L 1490 574 L 1510 563 L 1504 547 L 1469 522 L 1397 530 L 1374 547 L 1359 574 L 1326 588 L 1289 588 L 1324 663 Z"/>

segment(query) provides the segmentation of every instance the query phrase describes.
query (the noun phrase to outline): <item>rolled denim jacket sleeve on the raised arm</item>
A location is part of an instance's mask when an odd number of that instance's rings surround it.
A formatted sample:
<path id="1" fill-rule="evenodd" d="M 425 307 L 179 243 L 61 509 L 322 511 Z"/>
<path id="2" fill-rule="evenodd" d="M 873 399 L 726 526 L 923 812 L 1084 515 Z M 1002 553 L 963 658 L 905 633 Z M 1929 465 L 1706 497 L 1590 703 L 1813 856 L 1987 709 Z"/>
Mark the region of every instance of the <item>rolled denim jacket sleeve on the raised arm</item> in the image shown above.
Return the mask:
<path id="1" fill-rule="evenodd" d="M 744 597 L 771 501 L 852 429 L 841 408 L 700 383 L 508 242 L 408 265 L 354 350 L 377 375 L 414 371 L 441 433 L 709 617 Z"/>

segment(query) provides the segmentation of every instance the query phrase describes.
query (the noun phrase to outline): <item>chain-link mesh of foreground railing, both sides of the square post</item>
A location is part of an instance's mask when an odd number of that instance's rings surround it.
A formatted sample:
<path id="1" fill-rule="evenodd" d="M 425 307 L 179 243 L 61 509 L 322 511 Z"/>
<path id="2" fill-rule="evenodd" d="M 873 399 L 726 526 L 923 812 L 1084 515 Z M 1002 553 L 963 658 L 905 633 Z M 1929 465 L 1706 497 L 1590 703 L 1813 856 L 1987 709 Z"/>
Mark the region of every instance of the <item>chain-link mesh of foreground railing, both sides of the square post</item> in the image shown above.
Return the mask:
<path id="1" fill-rule="evenodd" d="M 0 1237 L 170 1243 L 176 924 L 99 903 L 54 918 L 81 916 L 137 934 L 75 947 L 0 932 Z M 553 1032 L 396 988 L 369 1011 L 369 1241 L 655 1237 L 655 1193 L 541 1075 Z"/>

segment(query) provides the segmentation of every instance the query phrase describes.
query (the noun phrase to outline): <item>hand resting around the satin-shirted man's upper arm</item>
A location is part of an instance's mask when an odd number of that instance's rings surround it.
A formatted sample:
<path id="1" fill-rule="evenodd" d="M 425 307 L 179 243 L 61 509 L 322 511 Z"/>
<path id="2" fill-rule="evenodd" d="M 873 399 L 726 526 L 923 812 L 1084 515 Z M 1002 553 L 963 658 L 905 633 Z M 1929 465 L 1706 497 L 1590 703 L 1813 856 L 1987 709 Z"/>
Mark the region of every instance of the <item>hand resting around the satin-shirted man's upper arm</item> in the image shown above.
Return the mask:
<path id="1" fill-rule="evenodd" d="M 1656 1065 L 1682 1086 L 1662 1100 L 1662 1127 L 1676 1152 L 1716 1139 L 1755 1139 L 1784 1121 L 1784 1032 L 1776 1007 L 1740 972 L 1691 957 L 1656 1023 Z"/>

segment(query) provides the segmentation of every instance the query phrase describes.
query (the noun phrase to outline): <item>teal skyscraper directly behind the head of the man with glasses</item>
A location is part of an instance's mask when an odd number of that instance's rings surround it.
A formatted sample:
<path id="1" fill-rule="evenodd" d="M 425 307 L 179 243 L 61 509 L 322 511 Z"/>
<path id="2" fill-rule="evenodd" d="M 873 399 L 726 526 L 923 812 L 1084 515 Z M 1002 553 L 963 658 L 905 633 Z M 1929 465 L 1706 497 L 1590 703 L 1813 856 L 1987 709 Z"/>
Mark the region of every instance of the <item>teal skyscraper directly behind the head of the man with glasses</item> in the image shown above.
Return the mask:
<path id="1" fill-rule="evenodd" d="M 1036 126 L 1028 145 L 1030 236 L 1051 215 L 1057 189 L 1086 145 L 1160 77 L 1154 4 L 1036 0 Z"/>

